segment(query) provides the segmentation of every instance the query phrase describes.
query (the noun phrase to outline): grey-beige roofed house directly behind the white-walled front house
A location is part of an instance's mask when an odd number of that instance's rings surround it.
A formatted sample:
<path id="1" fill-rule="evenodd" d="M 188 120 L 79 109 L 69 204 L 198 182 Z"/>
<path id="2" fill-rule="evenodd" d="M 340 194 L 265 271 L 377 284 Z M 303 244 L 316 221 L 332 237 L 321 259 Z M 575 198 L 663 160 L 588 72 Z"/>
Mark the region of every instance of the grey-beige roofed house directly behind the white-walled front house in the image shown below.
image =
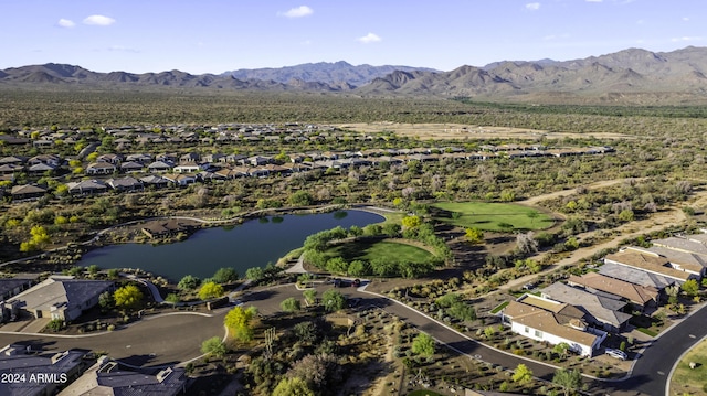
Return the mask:
<path id="1" fill-rule="evenodd" d="M 541 290 L 541 296 L 559 302 L 572 304 L 584 313 L 588 322 L 606 331 L 621 331 L 631 319 L 631 314 L 622 312 L 625 301 L 608 296 L 594 295 L 583 289 L 556 282 Z"/>

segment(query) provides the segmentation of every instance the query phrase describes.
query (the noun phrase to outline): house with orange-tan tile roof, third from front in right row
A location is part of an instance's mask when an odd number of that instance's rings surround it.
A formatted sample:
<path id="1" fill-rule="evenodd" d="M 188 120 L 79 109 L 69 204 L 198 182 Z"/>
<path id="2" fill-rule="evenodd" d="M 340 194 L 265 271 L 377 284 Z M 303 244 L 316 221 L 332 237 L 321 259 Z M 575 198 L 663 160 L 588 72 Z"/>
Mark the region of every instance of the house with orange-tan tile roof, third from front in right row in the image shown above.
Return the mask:
<path id="1" fill-rule="evenodd" d="M 655 288 L 630 283 L 598 272 L 587 272 L 581 277 L 572 275 L 567 282 L 570 286 L 582 287 L 592 292 L 603 291 L 618 296 L 631 302 L 634 308 L 641 311 L 648 307 L 655 307 L 658 301 L 658 291 Z"/>

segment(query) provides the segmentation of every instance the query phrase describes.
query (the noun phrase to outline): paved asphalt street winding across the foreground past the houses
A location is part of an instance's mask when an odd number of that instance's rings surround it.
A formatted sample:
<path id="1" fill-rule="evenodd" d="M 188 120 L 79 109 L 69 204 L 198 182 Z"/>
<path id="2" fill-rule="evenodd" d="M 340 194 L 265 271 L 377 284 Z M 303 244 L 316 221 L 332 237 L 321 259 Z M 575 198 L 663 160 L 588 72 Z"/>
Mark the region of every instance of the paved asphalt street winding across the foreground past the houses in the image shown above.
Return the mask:
<path id="1" fill-rule="evenodd" d="M 321 296 L 331 287 L 331 285 L 320 285 L 317 291 Z M 508 368 L 524 363 L 536 376 L 547 381 L 550 381 L 555 373 L 553 366 L 479 344 L 402 303 L 355 288 L 339 290 L 349 298 L 361 298 L 361 307 L 379 307 L 472 358 L 481 358 Z M 242 297 L 242 301 L 257 307 L 263 314 L 272 314 L 281 311 L 279 303 L 288 297 L 302 298 L 302 291 L 293 285 L 285 285 L 247 292 Z M 176 364 L 201 355 L 199 349 L 202 341 L 224 335 L 223 318 L 229 309 L 220 309 L 210 317 L 193 312 L 178 312 L 146 318 L 124 330 L 80 336 L 0 333 L 0 345 L 22 342 L 32 343 L 49 351 L 86 349 L 105 351 L 112 357 L 134 365 Z M 665 395 L 665 385 L 673 364 L 684 351 L 707 334 L 707 328 L 704 325 L 706 322 L 707 310 L 695 312 L 646 347 L 636 361 L 630 378 L 621 382 L 594 381 L 591 383 L 591 389 L 601 389 L 611 395 Z"/>

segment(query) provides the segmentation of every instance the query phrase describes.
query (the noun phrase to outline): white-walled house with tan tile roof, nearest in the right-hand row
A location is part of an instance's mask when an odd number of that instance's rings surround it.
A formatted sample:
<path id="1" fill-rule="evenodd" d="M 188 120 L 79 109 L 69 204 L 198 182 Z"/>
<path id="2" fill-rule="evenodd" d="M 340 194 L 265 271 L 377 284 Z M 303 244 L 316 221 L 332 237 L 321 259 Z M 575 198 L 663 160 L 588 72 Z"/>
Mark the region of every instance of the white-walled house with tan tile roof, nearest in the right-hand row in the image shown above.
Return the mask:
<path id="1" fill-rule="evenodd" d="M 513 332 L 552 345 L 564 342 L 582 356 L 591 357 L 606 338 L 605 332 L 587 328 L 584 312 L 541 297 L 524 295 L 510 301 L 500 314 Z"/>

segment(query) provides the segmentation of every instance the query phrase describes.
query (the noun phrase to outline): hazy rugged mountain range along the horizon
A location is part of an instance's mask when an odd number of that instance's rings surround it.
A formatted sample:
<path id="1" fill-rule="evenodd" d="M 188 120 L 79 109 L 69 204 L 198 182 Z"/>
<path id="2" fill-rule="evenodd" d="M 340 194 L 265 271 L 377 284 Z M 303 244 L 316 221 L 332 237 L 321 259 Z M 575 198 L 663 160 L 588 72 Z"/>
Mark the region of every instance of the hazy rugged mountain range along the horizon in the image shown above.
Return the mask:
<path id="1" fill-rule="evenodd" d="M 519 100 L 615 99 L 623 96 L 645 99 L 666 95 L 704 99 L 707 97 L 707 47 L 688 46 L 672 52 L 629 49 L 581 60 L 504 61 L 483 67 L 464 65 L 450 72 L 336 62 L 240 69 L 220 75 L 192 75 L 180 71 L 133 74 L 97 73 L 50 63 L 0 71 L 2 86 L 345 92 L 360 96 L 467 96 Z"/>

